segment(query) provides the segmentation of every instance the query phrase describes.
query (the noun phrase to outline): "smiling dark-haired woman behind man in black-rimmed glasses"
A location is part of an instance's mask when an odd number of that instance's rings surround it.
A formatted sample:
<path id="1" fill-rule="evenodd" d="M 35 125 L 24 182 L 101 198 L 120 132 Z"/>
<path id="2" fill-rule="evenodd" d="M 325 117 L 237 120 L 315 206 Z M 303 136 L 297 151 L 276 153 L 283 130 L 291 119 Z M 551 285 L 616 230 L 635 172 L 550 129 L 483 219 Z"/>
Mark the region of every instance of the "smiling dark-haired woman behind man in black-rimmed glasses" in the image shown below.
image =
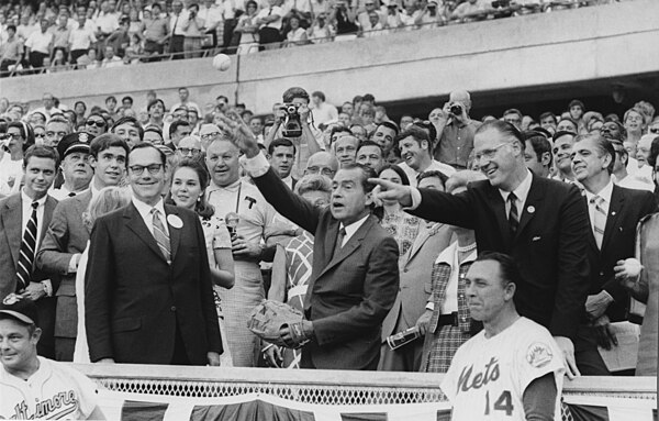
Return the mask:
<path id="1" fill-rule="evenodd" d="M 205 201 L 205 189 L 209 185 L 209 174 L 197 158 L 185 158 L 171 170 L 170 197 L 177 207 L 194 211 L 201 221 L 205 239 L 205 250 L 211 266 L 211 280 L 213 282 L 213 300 L 220 333 L 222 334 L 222 366 L 233 365 L 224 313 L 222 311 L 221 291 L 234 286 L 234 263 L 231 255 L 231 236 L 223 220 L 219 219 L 211 204 Z"/>

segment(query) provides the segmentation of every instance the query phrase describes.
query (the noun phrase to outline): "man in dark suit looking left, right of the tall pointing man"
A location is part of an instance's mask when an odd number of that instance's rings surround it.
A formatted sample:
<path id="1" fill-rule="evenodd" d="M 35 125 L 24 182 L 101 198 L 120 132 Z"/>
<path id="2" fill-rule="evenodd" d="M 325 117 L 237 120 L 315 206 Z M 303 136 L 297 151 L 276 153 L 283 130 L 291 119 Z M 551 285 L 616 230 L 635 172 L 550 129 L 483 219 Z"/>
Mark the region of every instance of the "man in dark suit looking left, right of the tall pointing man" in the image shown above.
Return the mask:
<path id="1" fill-rule="evenodd" d="M 572 151 L 572 173 L 583 186 L 591 226 L 588 234 L 590 291 L 585 300 L 589 322 L 579 328 L 577 341 L 594 342 L 596 337 L 610 350 L 614 341 L 610 322 L 627 320 L 629 310 L 629 295 L 615 278 L 613 268 L 618 261 L 634 256 L 636 226 L 641 218 L 655 212 L 655 197 L 649 191 L 613 184 L 611 174 L 616 152 L 607 139 L 599 134 L 577 136 Z M 579 363 L 588 365 L 587 372 L 591 375 L 610 375 L 596 350 L 585 354 Z"/>

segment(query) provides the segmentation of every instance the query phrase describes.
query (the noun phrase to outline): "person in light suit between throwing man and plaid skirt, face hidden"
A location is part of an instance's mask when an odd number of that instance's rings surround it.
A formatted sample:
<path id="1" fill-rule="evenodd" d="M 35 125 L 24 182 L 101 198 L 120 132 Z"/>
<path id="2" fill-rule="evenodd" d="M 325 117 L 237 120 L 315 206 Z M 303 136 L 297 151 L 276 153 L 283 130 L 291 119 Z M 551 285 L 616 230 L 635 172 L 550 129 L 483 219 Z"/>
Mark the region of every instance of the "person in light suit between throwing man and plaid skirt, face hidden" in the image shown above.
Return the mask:
<path id="1" fill-rule="evenodd" d="M 444 191 L 447 177 L 437 171 L 418 175 L 418 186 Z M 387 336 L 416 325 L 424 313 L 428 297 L 433 290 L 433 263 L 446 248 L 453 237 L 449 225 L 421 221 L 418 235 L 412 247 L 399 259 L 400 289 L 393 308 L 382 323 L 382 350 L 378 370 L 418 372 L 423 351 L 423 335 L 414 342 L 391 350 Z"/>

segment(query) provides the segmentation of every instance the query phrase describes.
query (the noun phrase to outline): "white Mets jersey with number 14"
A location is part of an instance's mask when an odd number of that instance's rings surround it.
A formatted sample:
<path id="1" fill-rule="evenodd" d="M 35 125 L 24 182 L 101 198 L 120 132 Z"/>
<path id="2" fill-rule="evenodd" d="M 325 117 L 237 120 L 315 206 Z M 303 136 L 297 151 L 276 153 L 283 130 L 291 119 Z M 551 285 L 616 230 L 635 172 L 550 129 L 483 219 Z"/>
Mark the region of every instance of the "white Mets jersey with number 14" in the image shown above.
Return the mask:
<path id="1" fill-rule="evenodd" d="M 458 348 L 442 381 L 453 420 L 524 421 L 524 390 L 548 373 L 556 380 L 555 419 L 560 420 L 561 355 L 549 331 L 526 318 L 493 337 L 481 331 Z"/>

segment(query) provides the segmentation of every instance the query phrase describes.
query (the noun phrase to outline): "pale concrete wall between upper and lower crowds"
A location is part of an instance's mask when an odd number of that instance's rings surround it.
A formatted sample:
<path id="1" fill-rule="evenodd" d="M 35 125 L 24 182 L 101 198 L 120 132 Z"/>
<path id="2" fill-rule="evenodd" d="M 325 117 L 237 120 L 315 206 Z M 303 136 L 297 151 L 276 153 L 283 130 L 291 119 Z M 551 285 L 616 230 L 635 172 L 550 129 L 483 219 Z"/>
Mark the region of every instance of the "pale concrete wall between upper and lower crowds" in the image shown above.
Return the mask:
<path id="1" fill-rule="evenodd" d="M 322 90 L 339 103 L 371 92 L 378 101 L 597 80 L 659 71 L 659 1 L 637 0 L 551 13 L 411 31 L 233 57 L 227 71 L 211 58 L 2 79 L 1 96 L 64 103 L 132 95 L 144 106 L 149 89 L 166 103 L 187 86 L 200 106 L 217 95 L 268 112 L 291 86 Z"/>

